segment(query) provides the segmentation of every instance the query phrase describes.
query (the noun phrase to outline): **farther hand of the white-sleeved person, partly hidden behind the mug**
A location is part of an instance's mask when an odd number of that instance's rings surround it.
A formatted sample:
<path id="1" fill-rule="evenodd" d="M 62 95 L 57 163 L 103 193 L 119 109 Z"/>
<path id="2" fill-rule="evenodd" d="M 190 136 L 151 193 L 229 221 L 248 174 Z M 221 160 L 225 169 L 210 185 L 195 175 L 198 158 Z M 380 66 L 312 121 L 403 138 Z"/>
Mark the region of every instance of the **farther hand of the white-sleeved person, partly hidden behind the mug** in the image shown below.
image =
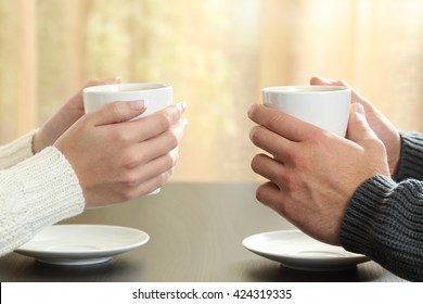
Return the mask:
<path id="1" fill-rule="evenodd" d="M 52 145 L 62 134 L 85 114 L 82 101 L 84 88 L 119 83 L 120 77 L 87 81 L 85 86 L 36 132 L 33 139 L 34 153 L 38 153 L 46 147 Z"/>

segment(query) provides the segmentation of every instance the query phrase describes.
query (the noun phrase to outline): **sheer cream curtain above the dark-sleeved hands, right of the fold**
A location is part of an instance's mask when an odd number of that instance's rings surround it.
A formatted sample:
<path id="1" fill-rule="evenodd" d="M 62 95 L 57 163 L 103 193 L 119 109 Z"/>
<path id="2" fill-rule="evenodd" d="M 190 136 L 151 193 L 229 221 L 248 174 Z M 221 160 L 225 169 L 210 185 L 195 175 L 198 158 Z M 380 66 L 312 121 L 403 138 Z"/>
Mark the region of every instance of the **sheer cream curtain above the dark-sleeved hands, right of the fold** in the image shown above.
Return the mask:
<path id="1" fill-rule="evenodd" d="M 344 78 L 401 129 L 423 130 L 423 2 L 262 1 L 260 87 Z"/>

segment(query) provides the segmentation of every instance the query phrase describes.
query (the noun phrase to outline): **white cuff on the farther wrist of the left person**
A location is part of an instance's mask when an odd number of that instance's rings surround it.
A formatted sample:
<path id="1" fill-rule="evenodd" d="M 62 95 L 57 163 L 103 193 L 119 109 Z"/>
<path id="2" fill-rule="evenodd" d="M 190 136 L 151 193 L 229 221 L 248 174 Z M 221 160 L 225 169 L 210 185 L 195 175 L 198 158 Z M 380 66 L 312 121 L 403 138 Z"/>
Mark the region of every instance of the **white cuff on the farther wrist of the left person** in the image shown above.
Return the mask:
<path id="1" fill-rule="evenodd" d="M 0 169 L 5 169 L 34 155 L 33 137 L 36 130 L 0 147 Z"/>

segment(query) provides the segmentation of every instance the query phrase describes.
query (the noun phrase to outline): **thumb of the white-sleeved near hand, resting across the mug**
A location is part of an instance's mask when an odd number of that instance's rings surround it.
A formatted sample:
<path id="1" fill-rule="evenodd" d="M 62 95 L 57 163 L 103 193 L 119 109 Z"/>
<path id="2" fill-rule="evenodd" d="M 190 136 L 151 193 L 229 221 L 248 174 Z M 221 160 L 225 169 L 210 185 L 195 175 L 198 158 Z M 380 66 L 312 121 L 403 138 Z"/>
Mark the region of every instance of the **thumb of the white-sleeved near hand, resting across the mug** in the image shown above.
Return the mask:
<path id="1" fill-rule="evenodd" d="M 146 109 L 143 100 L 116 101 L 91 113 L 95 125 L 110 125 L 127 122 L 142 114 Z"/>

